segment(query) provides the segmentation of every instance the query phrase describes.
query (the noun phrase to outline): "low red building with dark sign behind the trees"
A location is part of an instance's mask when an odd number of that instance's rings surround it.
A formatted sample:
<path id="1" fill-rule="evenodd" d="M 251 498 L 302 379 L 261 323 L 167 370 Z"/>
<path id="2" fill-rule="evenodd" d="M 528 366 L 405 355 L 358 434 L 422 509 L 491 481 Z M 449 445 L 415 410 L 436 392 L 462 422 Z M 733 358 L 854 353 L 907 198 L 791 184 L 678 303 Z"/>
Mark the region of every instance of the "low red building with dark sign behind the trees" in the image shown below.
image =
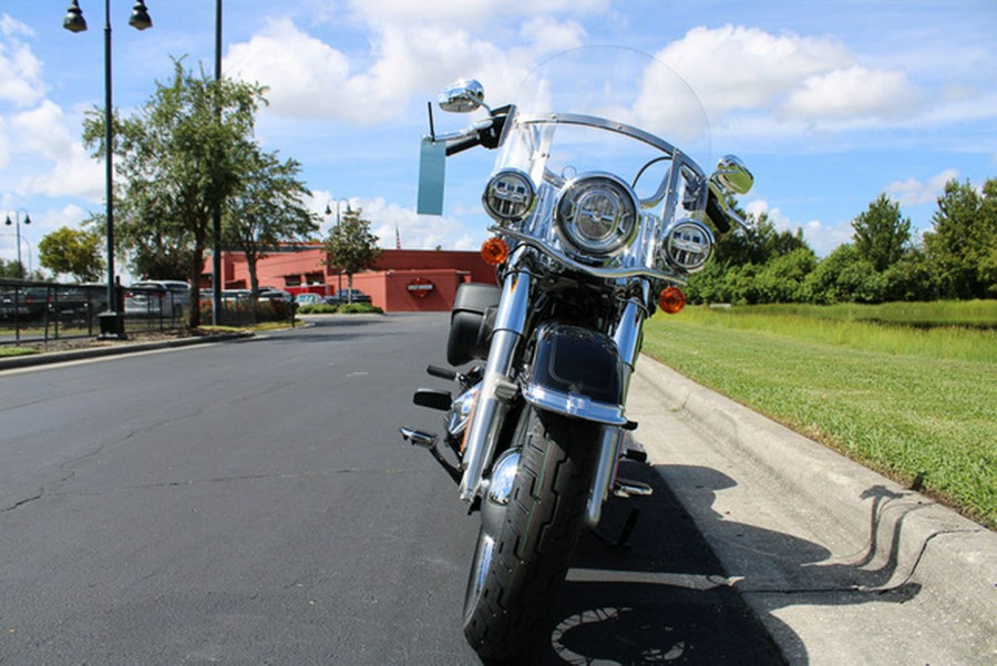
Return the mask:
<path id="1" fill-rule="evenodd" d="M 346 288 L 347 276 L 323 264 L 319 245 L 297 245 L 267 255 L 257 264 L 260 286 L 291 293 L 331 296 Z M 204 287 L 210 286 L 212 262 L 206 262 Z M 249 269 L 241 253 L 223 253 L 226 289 L 249 287 Z M 369 294 L 384 311 L 449 310 L 461 283 L 496 284 L 495 268 L 476 252 L 386 249 L 371 270 L 353 275 L 353 288 Z"/>

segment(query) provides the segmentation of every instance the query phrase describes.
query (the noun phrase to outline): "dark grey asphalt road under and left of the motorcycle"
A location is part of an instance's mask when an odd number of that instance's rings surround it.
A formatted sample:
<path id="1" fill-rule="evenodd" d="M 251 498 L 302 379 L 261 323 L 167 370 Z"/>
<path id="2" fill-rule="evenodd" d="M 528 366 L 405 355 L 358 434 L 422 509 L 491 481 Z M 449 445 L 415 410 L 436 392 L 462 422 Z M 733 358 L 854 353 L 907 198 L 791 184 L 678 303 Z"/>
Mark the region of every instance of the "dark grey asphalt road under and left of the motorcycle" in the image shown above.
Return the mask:
<path id="1" fill-rule="evenodd" d="M 401 424 L 445 315 L 0 372 L 0 664 L 476 664 L 476 521 Z M 777 650 L 648 467 L 583 539 L 535 664 Z"/>

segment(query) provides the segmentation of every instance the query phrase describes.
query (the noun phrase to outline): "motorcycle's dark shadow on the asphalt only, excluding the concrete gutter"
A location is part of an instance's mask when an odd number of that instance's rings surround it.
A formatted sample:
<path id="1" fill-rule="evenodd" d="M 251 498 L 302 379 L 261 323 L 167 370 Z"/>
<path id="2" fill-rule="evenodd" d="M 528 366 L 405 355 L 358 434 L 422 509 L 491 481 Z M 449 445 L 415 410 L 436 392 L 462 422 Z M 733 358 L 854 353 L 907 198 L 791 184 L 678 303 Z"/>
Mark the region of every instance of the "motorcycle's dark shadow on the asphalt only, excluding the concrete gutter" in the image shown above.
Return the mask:
<path id="1" fill-rule="evenodd" d="M 528 663 L 784 663 L 661 478 L 637 464 L 620 474 L 655 494 L 607 502 L 600 529 L 610 537 L 640 510 L 629 545 L 583 535 Z"/>

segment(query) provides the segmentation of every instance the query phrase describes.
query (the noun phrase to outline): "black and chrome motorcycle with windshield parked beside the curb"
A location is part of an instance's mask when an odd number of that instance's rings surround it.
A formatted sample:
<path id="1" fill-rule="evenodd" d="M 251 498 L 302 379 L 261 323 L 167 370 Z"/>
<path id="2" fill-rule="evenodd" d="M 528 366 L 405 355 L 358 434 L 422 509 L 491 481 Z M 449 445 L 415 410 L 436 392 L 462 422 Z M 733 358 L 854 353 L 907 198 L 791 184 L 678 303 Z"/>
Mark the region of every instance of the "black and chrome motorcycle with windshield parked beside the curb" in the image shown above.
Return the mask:
<path id="1" fill-rule="evenodd" d="M 695 93 L 635 51 L 551 58 L 515 104 L 489 107 L 474 80 L 446 88 L 439 104 L 487 113 L 442 135 L 430 113 L 421 178 L 442 187 L 434 160 L 475 146 L 497 152 L 482 194 L 494 221 L 482 256 L 498 286 L 456 291 L 453 369 L 428 369 L 454 380 L 456 396 L 415 392 L 417 404 L 445 412 L 442 440 L 401 432 L 480 514 L 463 631 L 482 658 L 504 660 L 528 648 L 582 530 L 597 529 L 610 493 L 651 493 L 617 477 L 621 459 L 641 458 L 624 437 L 637 428 L 626 399 L 641 327 L 657 308 L 682 309 L 681 286 L 710 259 L 713 229 L 744 224 L 732 205 L 753 176 L 732 155 L 711 174 L 699 166 L 710 144 Z"/>

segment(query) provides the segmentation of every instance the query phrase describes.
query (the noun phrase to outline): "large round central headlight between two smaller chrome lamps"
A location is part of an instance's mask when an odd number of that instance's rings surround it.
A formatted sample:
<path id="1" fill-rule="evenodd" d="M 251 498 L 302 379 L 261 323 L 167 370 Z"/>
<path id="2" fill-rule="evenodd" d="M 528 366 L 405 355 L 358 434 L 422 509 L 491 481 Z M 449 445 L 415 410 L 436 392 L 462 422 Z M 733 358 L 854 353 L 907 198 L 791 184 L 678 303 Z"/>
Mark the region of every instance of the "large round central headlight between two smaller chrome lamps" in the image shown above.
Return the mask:
<path id="1" fill-rule="evenodd" d="M 637 195 L 611 174 L 584 174 L 571 181 L 557 201 L 557 234 L 579 259 L 607 259 L 637 236 Z"/>

